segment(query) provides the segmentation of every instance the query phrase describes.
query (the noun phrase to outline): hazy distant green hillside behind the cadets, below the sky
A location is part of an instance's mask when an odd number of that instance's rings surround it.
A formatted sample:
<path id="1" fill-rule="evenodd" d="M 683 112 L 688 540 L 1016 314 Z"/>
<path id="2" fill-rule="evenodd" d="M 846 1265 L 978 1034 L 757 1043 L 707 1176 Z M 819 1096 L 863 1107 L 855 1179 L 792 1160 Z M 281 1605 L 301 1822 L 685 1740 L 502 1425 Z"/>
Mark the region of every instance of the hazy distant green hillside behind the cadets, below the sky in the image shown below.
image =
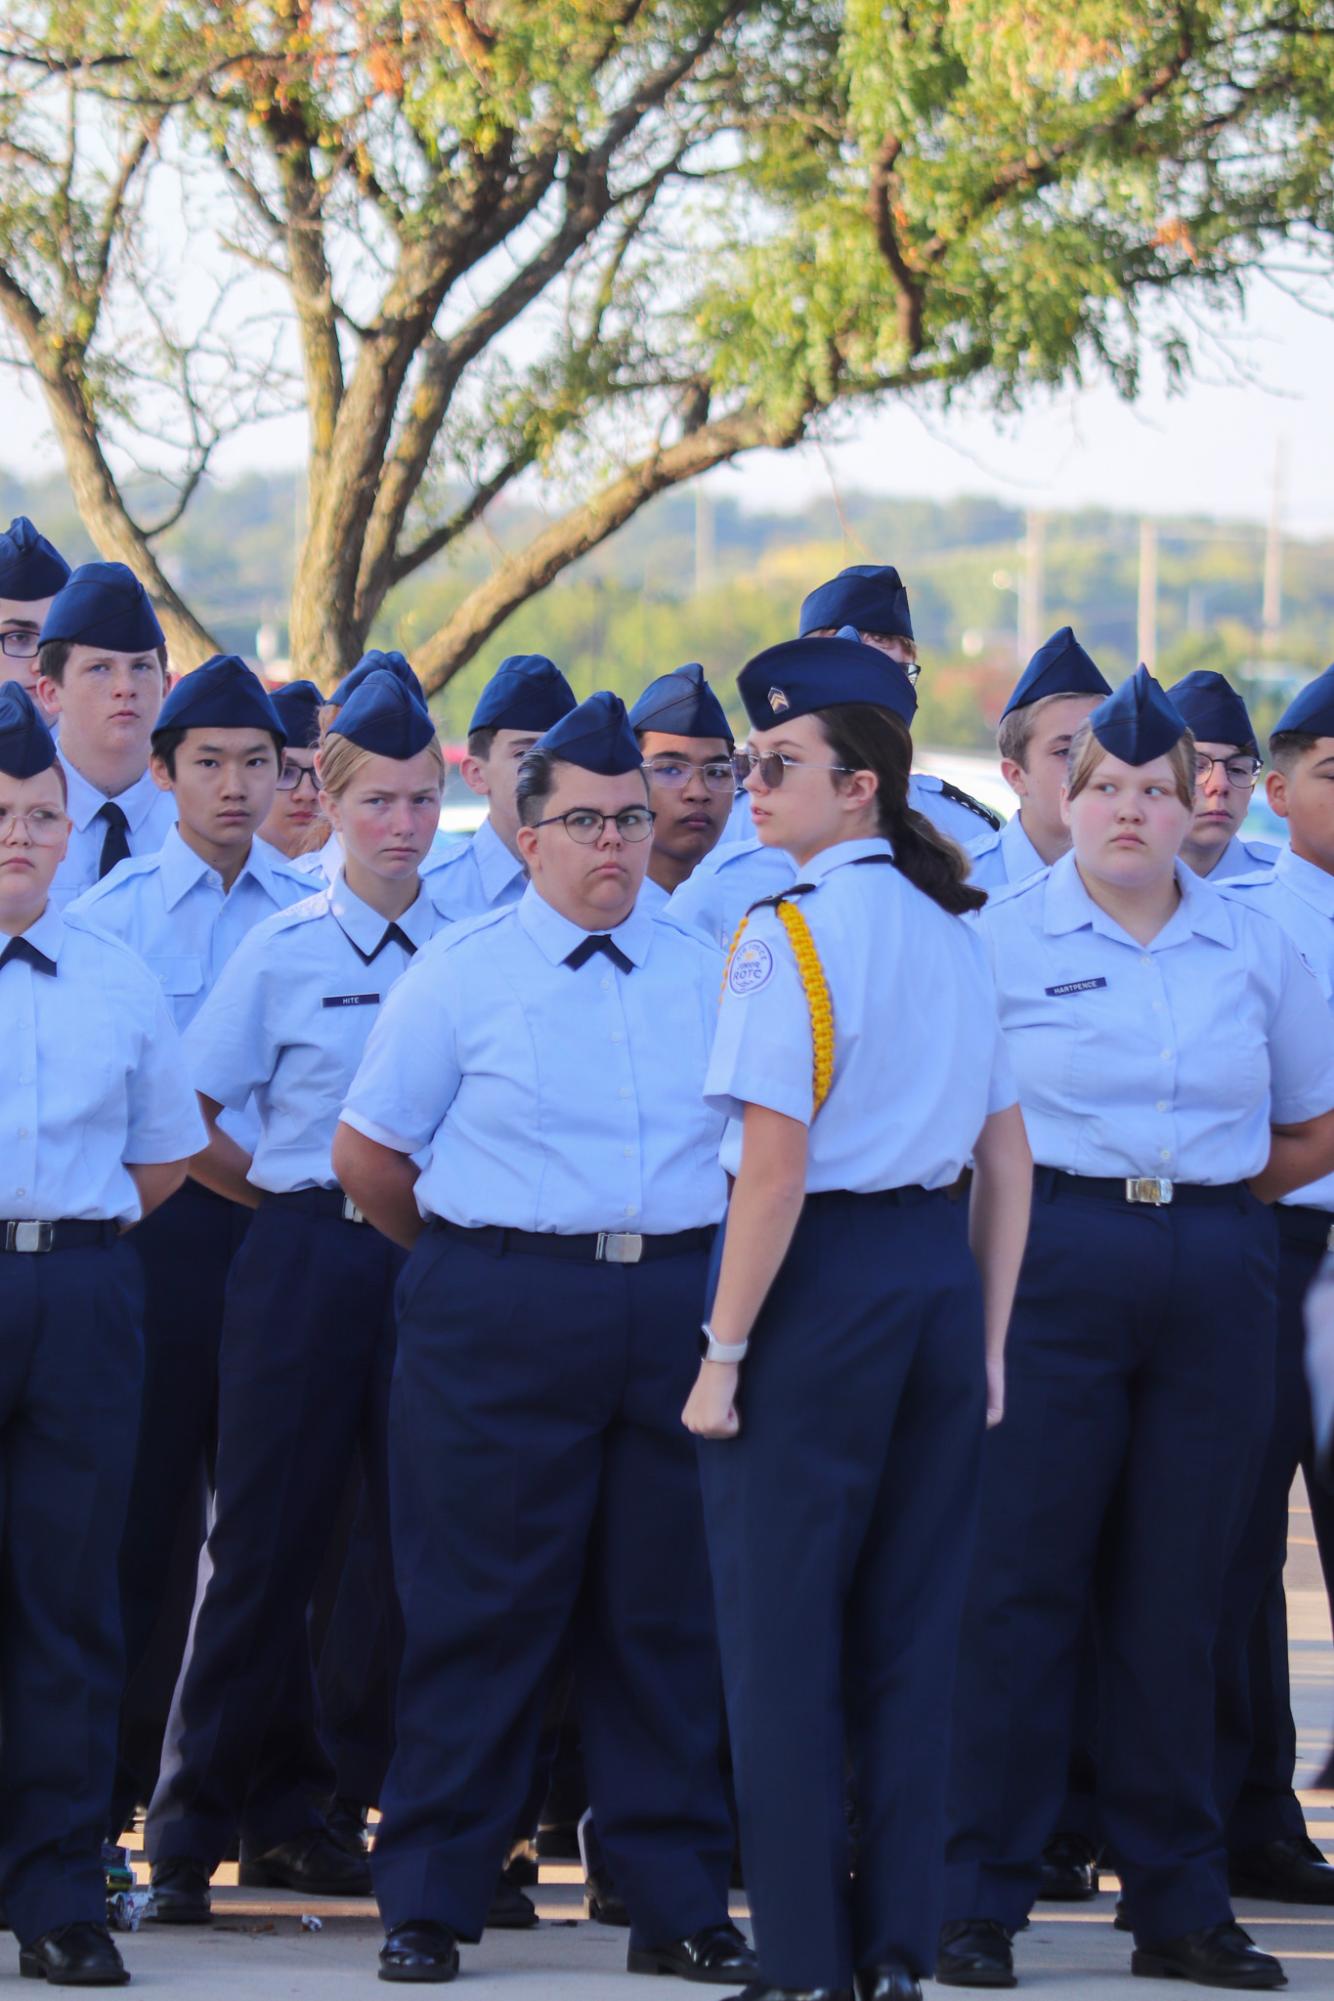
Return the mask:
<path id="1" fill-rule="evenodd" d="M 144 494 L 144 504 L 152 500 Z M 94 554 L 60 480 L 0 474 L 0 514 L 32 514 L 70 558 Z M 450 560 L 388 602 L 380 644 L 408 654 L 536 508 L 498 510 Z M 254 652 L 256 628 L 286 632 L 300 482 L 292 472 L 210 484 L 162 542 L 172 578 L 218 640 Z M 1116 680 L 1134 666 L 1138 536 L 1134 516 L 1084 508 L 1046 526 L 1044 630 L 1074 624 Z M 702 660 L 730 692 L 736 666 L 794 630 L 806 590 L 844 562 L 896 562 L 912 596 L 926 672 L 922 734 L 986 748 L 1016 670 L 1016 584 L 1024 514 L 998 500 L 890 500 L 846 494 L 798 514 L 748 512 L 734 500 L 664 494 L 612 542 L 522 606 L 438 696 L 440 722 L 462 734 L 476 690 L 506 652 L 550 652 L 574 686 L 632 696 L 652 674 Z M 1172 682 L 1210 664 L 1246 680 L 1264 726 L 1282 684 L 1252 678 L 1260 658 L 1264 530 L 1206 516 L 1158 524 L 1158 672 Z M 1282 660 L 1314 670 L 1334 654 L 1334 542 L 1284 544 Z"/>

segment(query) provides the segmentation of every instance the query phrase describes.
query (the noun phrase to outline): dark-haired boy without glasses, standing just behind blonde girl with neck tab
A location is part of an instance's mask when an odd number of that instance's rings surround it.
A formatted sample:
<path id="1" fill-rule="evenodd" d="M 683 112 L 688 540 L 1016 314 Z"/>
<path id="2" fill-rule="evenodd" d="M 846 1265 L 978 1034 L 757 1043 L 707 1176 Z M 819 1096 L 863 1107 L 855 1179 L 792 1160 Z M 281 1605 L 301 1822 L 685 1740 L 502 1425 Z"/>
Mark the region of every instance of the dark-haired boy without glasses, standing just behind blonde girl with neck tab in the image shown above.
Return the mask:
<path id="1" fill-rule="evenodd" d="M 244 660 L 218 654 L 186 674 L 152 730 L 148 776 L 174 806 L 162 846 L 128 856 L 70 904 L 138 952 L 182 1033 L 246 932 L 310 894 L 310 878 L 256 838 L 282 744 L 278 714 Z M 244 1113 L 238 1131 L 244 1137 Z M 110 1847 L 158 1775 L 206 1529 L 222 1297 L 246 1225 L 240 1203 L 190 1179 L 136 1239 L 144 1403 L 120 1555 L 128 1689 Z M 124 1857 L 108 1863 L 124 1871 Z"/>

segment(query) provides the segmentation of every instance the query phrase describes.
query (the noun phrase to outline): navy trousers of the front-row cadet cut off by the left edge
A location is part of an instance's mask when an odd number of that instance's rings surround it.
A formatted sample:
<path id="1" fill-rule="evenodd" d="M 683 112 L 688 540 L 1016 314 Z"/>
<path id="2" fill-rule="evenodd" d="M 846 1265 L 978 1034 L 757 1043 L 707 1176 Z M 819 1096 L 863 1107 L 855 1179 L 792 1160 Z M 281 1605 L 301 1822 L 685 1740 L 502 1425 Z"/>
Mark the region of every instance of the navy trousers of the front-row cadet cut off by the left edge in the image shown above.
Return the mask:
<path id="1" fill-rule="evenodd" d="M 0 1901 L 22 1945 L 106 1921 L 142 1315 L 124 1241 L 0 1253 Z"/>

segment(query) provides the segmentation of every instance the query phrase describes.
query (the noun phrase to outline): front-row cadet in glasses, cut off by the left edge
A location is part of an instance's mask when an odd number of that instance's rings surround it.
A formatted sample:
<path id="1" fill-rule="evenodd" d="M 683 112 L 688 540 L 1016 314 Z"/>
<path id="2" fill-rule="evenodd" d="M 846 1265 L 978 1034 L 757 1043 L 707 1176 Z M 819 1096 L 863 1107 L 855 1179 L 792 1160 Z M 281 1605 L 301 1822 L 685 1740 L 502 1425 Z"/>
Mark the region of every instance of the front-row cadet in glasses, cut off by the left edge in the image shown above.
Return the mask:
<path id="1" fill-rule="evenodd" d="M 62 918 L 56 746 L 0 688 L 0 1895 L 20 1973 L 120 1985 L 102 1829 L 122 1687 L 116 1555 L 144 1287 L 126 1231 L 204 1131 L 158 980 Z"/>

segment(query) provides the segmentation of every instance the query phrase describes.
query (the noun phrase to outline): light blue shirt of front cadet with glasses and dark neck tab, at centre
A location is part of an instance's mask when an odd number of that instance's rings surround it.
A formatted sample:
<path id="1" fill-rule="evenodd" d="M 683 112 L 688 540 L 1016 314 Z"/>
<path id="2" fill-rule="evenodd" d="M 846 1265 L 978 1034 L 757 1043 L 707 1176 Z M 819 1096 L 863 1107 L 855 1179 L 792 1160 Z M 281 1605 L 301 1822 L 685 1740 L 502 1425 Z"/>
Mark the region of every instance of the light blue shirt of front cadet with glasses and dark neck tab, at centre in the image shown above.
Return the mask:
<path id="1" fill-rule="evenodd" d="M 424 1217 L 650 1237 L 720 1219 L 702 1091 L 722 960 L 644 910 L 612 932 L 630 972 L 568 966 L 584 936 L 528 886 L 442 930 L 384 1003 L 342 1117 L 426 1151 Z"/>

